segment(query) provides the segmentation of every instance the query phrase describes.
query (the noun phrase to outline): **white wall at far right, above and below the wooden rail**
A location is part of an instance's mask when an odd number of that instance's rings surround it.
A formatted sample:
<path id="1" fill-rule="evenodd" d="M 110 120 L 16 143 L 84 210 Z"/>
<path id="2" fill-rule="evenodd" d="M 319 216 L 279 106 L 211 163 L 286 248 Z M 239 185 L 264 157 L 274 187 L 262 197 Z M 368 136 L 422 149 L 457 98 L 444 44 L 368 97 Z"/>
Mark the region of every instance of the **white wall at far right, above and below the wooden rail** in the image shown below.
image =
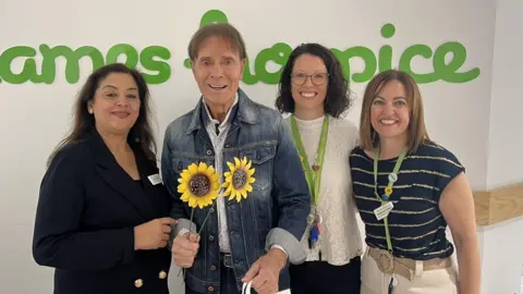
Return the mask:
<path id="1" fill-rule="evenodd" d="M 488 133 L 489 189 L 523 182 L 521 0 L 498 0 Z M 523 195 L 521 195 L 523 197 Z M 479 230 L 483 240 L 483 293 L 522 293 L 523 218 Z"/>

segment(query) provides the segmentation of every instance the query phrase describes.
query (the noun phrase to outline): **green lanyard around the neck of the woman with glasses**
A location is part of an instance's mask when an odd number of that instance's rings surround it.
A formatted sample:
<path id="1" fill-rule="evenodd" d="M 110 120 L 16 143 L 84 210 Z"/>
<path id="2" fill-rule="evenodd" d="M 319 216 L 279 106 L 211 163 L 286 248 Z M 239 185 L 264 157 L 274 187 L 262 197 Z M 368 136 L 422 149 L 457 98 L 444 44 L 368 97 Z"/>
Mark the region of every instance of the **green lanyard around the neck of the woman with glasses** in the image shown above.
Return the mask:
<path id="1" fill-rule="evenodd" d="M 321 135 L 319 138 L 318 150 L 317 150 L 317 162 L 316 169 L 311 169 L 308 163 L 307 155 L 305 154 L 305 148 L 303 147 L 302 137 L 297 131 L 296 120 L 294 115 L 291 115 L 291 130 L 292 136 L 294 137 L 294 143 L 296 144 L 297 152 L 302 157 L 302 166 L 305 170 L 305 177 L 307 180 L 308 189 L 311 191 L 311 196 L 313 203 L 318 205 L 319 201 L 319 183 L 321 179 L 321 169 L 324 168 L 324 158 L 325 158 L 325 146 L 327 145 L 327 133 L 329 132 L 329 115 L 324 115 L 324 125 L 321 127 Z"/>

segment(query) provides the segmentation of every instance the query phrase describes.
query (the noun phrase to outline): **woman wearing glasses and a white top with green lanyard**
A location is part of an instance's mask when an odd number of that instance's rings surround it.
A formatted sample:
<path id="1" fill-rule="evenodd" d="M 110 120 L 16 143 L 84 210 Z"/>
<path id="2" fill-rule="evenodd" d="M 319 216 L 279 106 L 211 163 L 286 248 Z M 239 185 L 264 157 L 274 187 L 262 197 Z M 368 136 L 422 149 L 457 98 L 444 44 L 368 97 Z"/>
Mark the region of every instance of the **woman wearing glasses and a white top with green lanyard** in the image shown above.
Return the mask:
<path id="1" fill-rule="evenodd" d="M 291 266 L 291 292 L 360 293 L 362 241 L 349 162 L 357 128 L 341 115 L 350 108 L 348 81 L 332 52 L 304 44 L 285 64 L 276 107 L 288 121 L 311 189 L 302 245 L 307 259 Z"/>

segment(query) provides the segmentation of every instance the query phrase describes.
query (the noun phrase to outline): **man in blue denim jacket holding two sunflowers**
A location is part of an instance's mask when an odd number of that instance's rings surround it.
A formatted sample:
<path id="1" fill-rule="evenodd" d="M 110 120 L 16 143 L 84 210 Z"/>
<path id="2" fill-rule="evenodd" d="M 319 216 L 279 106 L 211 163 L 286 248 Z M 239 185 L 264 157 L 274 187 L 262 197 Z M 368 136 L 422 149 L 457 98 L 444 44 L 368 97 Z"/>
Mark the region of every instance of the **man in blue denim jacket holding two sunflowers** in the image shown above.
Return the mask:
<path id="1" fill-rule="evenodd" d="M 305 260 L 300 240 L 311 197 L 288 125 L 239 88 L 246 52 L 234 27 L 200 27 L 188 54 L 203 96 L 168 126 L 161 159 L 174 203 L 171 217 L 178 219 L 170 238 L 173 260 L 188 269 L 185 293 L 240 293 L 250 281 L 259 294 L 289 289 L 289 262 Z M 241 203 L 220 191 L 216 204 L 194 209 L 191 222 L 192 209 L 178 192 L 180 174 L 191 163 L 205 162 L 215 167 L 221 184 L 234 157 L 252 160 L 253 191 Z"/>

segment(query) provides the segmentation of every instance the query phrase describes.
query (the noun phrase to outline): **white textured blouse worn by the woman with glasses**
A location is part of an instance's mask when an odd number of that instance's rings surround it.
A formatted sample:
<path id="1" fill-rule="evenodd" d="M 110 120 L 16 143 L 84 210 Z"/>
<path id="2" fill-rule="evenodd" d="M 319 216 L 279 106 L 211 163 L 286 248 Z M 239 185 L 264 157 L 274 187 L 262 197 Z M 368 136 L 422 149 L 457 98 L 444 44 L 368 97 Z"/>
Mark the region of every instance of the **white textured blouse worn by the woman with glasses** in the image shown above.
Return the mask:
<path id="1" fill-rule="evenodd" d="M 287 120 L 290 124 L 289 119 Z M 324 117 L 312 121 L 296 118 L 297 130 L 311 164 L 318 148 L 323 122 Z M 309 249 L 311 226 L 307 226 L 301 241 L 307 252 L 306 261 L 319 260 L 320 250 L 323 261 L 342 266 L 363 253 L 349 167 L 349 155 L 357 145 L 357 137 L 358 131 L 354 123 L 330 118 L 319 187 L 318 211 L 321 217 L 321 234 L 319 246 Z"/>

